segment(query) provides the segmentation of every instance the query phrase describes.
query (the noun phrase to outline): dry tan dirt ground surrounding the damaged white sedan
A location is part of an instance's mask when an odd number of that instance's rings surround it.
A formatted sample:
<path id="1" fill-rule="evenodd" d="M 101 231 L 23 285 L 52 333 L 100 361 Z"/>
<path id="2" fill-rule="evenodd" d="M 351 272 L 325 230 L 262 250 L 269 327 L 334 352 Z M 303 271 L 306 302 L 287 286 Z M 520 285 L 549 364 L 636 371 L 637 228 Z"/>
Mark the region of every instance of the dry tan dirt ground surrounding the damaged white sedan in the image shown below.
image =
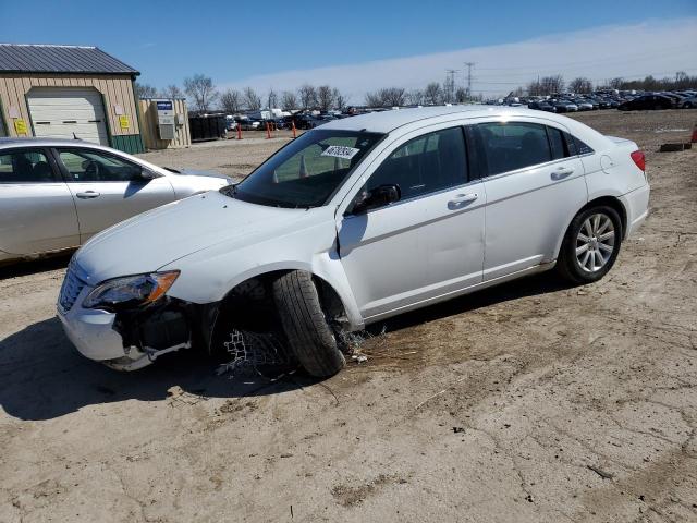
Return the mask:
<path id="1" fill-rule="evenodd" d="M 54 317 L 66 258 L 5 269 L 0 522 L 697 521 L 697 150 L 656 151 L 697 111 L 575 118 L 647 150 L 651 215 L 610 275 L 406 314 L 325 381 L 109 370 Z M 282 143 L 146 157 L 242 174 Z"/>

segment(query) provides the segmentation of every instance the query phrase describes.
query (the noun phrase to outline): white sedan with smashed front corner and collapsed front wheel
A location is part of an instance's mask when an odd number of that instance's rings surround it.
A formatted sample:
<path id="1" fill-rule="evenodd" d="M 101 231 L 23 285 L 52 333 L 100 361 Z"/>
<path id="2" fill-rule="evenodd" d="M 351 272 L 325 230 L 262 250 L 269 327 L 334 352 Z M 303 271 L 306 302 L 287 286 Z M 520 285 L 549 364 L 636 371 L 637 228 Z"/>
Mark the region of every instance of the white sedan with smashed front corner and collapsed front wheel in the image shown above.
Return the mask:
<path id="1" fill-rule="evenodd" d="M 239 329 L 281 333 L 328 376 L 340 331 L 553 267 L 599 280 L 647 216 L 644 169 L 633 142 L 523 108 L 335 120 L 236 186 L 98 234 L 58 313 L 114 368 Z"/>

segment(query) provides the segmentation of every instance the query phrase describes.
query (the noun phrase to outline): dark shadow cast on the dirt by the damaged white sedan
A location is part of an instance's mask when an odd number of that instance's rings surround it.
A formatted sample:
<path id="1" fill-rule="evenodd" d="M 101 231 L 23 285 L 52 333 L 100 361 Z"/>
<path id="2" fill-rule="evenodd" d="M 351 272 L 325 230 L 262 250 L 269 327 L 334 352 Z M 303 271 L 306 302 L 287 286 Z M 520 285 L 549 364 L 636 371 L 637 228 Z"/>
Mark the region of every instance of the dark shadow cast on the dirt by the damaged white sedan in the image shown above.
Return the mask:
<path id="1" fill-rule="evenodd" d="M 564 289 L 540 275 L 496 289 L 403 314 L 370 330 L 395 331 L 488 305 Z M 58 318 L 30 325 L 0 341 L 0 406 L 21 419 L 51 419 L 81 408 L 124 401 L 157 401 L 179 386 L 185 392 L 216 398 L 277 394 L 317 382 L 301 373 L 270 381 L 245 382 L 216 374 L 217 364 L 196 351 L 158 360 L 135 373 L 119 373 L 77 353 Z"/>

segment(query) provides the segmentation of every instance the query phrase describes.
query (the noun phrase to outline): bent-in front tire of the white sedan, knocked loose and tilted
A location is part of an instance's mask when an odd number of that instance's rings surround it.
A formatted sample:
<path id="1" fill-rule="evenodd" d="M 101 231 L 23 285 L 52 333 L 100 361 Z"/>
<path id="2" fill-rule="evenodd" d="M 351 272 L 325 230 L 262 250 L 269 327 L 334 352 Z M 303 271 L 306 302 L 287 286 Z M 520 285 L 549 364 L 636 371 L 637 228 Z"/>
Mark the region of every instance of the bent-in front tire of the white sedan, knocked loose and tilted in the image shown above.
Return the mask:
<path id="1" fill-rule="evenodd" d="M 293 270 L 273 282 L 273 301 L 293 354 L 316 377 L 333 376 L 346 361 L 327 323 L 309 272 Z"/>

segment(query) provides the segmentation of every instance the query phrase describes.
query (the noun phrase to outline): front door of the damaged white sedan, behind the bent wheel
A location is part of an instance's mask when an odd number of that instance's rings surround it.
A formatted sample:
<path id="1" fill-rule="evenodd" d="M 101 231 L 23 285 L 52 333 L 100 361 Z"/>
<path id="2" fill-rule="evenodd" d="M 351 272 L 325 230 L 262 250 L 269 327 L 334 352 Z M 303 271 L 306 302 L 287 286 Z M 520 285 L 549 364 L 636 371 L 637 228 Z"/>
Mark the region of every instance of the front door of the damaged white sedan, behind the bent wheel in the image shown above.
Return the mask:
<path id="1" fill-rule="evenodd" d="M 468 178 L 461 126 L 413 133 L 381 155 L 353 202 L 396 185 L 390 205 L 341 217 L 339 253 L 364 319 L 481 281 L 484 185 Z"/>

